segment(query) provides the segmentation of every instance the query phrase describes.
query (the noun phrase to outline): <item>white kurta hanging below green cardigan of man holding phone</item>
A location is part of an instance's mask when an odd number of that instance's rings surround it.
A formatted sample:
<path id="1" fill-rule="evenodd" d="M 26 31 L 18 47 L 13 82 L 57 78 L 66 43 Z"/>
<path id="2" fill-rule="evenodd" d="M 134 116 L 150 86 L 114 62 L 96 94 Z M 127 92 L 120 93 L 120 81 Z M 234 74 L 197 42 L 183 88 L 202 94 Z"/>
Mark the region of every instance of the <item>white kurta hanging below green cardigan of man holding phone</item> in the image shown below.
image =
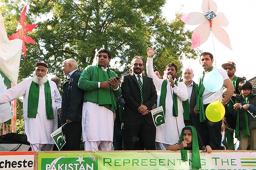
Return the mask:
<path id="1" fill-rule="evenodd" d="M 114 113 L 104 106 L 84 102 L 82 111 L 83 142 L 113 141 Z M 98 150 L 85 148 L 85 150 Z"/>

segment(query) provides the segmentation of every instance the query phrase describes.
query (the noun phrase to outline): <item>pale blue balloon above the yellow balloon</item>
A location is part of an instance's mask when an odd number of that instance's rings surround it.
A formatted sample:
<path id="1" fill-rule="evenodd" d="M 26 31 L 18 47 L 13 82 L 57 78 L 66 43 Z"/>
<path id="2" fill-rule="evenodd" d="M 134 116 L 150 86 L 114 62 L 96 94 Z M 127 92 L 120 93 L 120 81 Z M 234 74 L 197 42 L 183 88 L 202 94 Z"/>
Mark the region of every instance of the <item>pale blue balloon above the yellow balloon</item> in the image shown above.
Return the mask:
<path id="1" fill-rule="evenodd" d="M 217 92 L 224 83 L 222 75 L 217 69 L 213 69 L 204 76 L 204 88 L 210 92 Z"/>

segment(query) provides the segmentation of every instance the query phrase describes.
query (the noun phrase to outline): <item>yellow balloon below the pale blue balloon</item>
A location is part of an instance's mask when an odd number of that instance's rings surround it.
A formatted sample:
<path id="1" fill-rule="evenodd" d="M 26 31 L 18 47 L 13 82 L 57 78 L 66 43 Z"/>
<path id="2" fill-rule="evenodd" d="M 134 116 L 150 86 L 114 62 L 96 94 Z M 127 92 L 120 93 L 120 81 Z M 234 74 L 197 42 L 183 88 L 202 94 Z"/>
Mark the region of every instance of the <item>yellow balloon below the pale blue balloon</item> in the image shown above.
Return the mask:
<path id="1" fill-rule="evenodd" d="M 205 114 L 212 122 L 221 121 L 225 115 L 225 107 L 220 101 L 212 102 L 206 107 Z"/>

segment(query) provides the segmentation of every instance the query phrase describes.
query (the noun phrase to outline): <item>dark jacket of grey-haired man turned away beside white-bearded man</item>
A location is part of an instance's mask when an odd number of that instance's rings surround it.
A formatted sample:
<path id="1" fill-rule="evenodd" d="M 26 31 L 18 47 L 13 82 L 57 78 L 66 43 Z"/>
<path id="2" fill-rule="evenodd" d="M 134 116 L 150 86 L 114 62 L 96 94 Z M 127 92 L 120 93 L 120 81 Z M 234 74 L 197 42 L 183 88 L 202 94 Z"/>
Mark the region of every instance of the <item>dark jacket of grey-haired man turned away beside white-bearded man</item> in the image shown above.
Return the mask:
<path id="1" fill-rule="evenodd" d="M 80 75 L 81 73 L 76 70 L 63 86 L 61 123 L 66 123 L 66 119 L 82 121 L 84 91 L 77 86 Z"/>

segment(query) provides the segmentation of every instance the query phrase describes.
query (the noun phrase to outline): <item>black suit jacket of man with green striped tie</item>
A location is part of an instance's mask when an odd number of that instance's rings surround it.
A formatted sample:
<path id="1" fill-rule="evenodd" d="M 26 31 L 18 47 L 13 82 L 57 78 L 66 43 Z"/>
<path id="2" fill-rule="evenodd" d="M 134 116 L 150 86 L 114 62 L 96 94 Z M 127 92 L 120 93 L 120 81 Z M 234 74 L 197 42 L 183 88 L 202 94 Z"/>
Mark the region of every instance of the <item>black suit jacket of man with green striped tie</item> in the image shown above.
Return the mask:
<path id="1" fill-rule="evenodd" d="M 152 109 L 152 106 L 156 103 L 157 94 L 152 78 L 142 76 L 143 79 L 143 100 L 144 105 L 148 107 L 148 110 Z M 138 113 L 138 107 L 140 107 L 141 97 L 138 80 L 133 73 L 127 74 L 122 77 L 122 96 L 125 101 L 122 121 L 137 121 L 138 119 L 145 118 L 147 123 L 153 124 L 151 114 L 142 115 Z"/>

